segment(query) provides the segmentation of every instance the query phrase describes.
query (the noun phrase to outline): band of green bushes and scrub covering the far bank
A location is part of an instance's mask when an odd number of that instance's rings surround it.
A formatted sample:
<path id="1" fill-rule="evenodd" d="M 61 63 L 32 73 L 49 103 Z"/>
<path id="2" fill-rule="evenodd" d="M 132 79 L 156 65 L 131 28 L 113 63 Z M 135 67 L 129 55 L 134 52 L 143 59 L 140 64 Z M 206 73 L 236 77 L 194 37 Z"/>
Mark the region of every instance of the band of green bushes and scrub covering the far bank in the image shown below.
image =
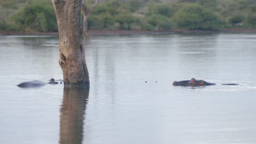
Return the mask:
<path id="1" fill-rule="evenodd" d="M 90 8 L 95 1 L 85 2 Z M 51 1 L 1 1 L 0 12 L 1 35 L 57 34 Z M 255 28 L 254 0 L 101 0 L 88 19 L 90 34 L 254 33 Z"/>

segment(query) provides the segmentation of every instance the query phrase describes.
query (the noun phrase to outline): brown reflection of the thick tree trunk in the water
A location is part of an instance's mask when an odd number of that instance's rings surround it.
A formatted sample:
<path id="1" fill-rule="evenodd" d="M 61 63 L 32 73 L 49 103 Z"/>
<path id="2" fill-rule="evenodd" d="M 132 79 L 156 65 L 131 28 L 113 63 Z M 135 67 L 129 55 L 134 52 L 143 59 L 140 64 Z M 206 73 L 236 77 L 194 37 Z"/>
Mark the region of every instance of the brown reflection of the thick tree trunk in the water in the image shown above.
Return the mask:
<path id="1" fill-rule="evenodd" d="M 89 89 L 64 88 L 59 143 L 82 143 L 88 96 Z"/>

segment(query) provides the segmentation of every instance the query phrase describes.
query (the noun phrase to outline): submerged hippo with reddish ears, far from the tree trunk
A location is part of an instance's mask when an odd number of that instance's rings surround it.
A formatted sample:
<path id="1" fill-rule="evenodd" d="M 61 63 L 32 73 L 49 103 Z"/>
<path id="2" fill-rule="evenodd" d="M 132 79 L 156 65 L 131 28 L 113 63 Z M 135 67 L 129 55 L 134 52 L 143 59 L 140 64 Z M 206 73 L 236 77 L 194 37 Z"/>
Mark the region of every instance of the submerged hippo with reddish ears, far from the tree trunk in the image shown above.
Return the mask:
<path id="1" fill-rule="evenodd" d="M 210 82 L 206 82 L 203 80 L 196 80 L 194 78 L 192 78 L 191 80 L 188 81 L 173 81 L 172 83 L 173 86 L 190 86 L 190 87 L 201 87 L 201 86 L 211 86 L 211 85 L 216 85 L 216 83 L 210 83 Z M 230 85 L 230 86 L 234 86 L 234 85 L 238 85 L 236 83 L 223 83 L 222 85 Z"/>

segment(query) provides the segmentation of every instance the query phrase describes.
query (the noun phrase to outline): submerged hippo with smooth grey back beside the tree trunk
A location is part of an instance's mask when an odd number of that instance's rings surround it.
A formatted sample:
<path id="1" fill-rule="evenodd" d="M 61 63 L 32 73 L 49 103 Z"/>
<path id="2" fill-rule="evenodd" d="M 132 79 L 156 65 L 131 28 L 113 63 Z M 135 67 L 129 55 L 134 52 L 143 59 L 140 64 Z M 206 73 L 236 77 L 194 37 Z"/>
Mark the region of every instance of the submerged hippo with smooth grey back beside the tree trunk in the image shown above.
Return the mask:
<path id="1" fill-rule="evenodd" d="M 49 84 L 58 84 L 59 82 L 56 82 L 53 78 L 49 80 L 50 82 L 48 82 Z M 62 83 L 62 82 L 60 82 Z M 45 82 L 42 81 L 26 81 L 26 82 L 21 82 L 19 85 L 17 85 L 18 87 L 21 88 L 36 88 L 36 87 L 42 87 L 44 86 Z"/>

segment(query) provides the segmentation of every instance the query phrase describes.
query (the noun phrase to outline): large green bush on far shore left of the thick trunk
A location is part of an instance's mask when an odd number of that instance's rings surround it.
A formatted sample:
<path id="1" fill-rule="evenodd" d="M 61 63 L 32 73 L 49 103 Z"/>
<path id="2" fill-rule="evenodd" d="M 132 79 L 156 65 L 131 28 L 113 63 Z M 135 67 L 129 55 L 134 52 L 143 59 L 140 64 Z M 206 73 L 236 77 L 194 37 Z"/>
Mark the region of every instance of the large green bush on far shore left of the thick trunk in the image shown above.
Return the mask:
<path id="1" fill-rule="evenodd" d="M 18 25 L 25 31 L 53 32 L 57 31 L 57 22 L 53 5 L 34 1 L 14 16 Z"/>

